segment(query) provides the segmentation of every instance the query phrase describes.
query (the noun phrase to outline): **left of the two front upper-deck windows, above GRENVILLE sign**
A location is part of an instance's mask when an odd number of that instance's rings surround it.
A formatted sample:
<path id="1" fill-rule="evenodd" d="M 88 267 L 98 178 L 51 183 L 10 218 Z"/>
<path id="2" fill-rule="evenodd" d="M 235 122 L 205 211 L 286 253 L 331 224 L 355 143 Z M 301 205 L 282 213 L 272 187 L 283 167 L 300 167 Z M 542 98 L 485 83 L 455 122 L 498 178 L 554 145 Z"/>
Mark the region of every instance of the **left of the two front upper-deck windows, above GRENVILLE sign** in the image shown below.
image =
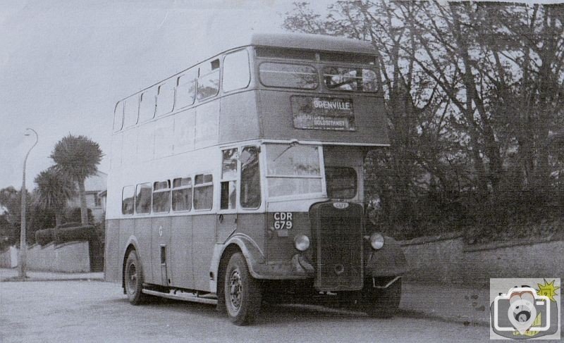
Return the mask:
<path id="1" fill-rule="evenodd" d="M 267 87 L 316 89 L 317 70 L 312 66 L 264 62 L 259 66 L 260 82 Z"/>

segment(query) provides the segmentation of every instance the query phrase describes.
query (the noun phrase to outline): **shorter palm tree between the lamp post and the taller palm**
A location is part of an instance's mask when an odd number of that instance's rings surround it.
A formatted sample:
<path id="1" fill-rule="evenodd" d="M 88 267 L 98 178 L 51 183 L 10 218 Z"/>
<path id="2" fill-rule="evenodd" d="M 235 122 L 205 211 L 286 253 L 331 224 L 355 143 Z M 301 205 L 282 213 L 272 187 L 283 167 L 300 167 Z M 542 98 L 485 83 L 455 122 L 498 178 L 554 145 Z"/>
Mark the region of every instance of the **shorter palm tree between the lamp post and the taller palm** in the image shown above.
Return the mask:
<path id="1" fill-rule="evenodd" d="M 54 167 L 50 167 L 35 177 L 35 184 L 37 185 L 35 204 L 42 210 L 53 210 L 56 225 L 61 225 L 63 209 L 68 199 L 75 196 L 74 183 L 58 173 Z"/>

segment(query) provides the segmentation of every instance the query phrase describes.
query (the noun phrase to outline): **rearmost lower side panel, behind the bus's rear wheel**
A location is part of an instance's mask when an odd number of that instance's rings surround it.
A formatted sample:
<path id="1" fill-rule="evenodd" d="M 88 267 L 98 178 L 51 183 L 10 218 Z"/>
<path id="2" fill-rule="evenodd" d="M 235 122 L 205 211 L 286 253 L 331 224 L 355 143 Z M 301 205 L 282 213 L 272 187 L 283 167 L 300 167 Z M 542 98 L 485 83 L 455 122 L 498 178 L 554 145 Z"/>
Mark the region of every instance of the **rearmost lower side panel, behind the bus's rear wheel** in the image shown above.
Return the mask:
<path id="1" fill-rule="evenodd" d="M 104 256 L 104 278 L 106 281 L 121 282 L 120 256 L 123 247 L 119 239 L 119 219 L 106 220 L 106 249 Z"/>

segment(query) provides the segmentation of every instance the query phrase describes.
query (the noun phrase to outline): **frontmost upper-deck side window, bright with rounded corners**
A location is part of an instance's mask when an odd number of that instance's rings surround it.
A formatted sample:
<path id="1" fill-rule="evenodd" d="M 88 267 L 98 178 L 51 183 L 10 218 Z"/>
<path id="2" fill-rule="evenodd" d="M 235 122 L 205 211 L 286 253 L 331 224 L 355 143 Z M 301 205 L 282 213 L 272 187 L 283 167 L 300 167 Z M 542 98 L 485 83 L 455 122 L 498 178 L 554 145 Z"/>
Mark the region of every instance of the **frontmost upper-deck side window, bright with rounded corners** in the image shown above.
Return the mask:
<path id="1" fill-rule="evenodd" d="M 227 54 L 223 59 L 223 92 L 247 88 L 251 81 L 247 50 Z"/>

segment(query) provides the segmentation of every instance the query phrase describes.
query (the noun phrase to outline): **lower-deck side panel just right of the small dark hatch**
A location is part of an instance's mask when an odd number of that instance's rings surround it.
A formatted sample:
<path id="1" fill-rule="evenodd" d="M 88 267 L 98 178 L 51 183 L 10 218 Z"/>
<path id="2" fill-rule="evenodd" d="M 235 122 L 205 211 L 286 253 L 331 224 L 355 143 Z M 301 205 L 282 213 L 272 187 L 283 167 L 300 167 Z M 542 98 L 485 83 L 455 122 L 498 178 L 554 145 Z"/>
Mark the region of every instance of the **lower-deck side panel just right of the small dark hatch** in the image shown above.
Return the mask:
<path id="1" fill-rule="evenodd" d="M 171 218 L 171 273 L 172 286 L 194 289 L 192 270 L 192 218 L 175 216 Z"/>

